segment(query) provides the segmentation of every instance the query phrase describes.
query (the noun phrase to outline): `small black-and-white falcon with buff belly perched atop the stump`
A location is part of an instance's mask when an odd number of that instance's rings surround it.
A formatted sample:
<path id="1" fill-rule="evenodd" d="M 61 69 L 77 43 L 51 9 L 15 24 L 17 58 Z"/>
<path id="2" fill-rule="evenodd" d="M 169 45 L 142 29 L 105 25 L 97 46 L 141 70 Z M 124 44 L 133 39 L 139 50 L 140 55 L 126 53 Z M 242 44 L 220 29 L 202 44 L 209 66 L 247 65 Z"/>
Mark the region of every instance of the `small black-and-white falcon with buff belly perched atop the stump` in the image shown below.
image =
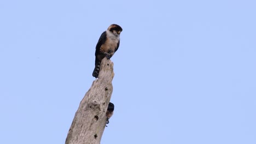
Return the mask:
<path id="1" fill-rule="evenodd" d="M 98 39 L 95 51 L 95 68 L 92 73 L 92 76 L 95 78 L 98 77 L 98 73 L 100 72 L 102 59 L 105 56 L 110 59 L 118 50 L 120 43 L 119 36 L 122 31 L 123 29 L 120 26 L 112 24 L 108 27 L 107 31 L 101 34 L 100 39 Z"/>

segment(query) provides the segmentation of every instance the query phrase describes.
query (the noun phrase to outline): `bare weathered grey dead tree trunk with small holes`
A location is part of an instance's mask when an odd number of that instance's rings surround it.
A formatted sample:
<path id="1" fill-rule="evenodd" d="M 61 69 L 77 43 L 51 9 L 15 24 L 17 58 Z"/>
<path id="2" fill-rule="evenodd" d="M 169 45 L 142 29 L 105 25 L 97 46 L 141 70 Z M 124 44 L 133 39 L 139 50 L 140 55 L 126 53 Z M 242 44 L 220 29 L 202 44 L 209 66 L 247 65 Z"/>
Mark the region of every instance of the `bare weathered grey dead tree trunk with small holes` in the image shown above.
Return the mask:
<path id="1" fill-rule="evenodd" d="M 102 59 L 100 74 L 80 102 L 68 131 L 66 144 L 100 144 L 106 111 L 113 92 L 113 62 Z"/>

